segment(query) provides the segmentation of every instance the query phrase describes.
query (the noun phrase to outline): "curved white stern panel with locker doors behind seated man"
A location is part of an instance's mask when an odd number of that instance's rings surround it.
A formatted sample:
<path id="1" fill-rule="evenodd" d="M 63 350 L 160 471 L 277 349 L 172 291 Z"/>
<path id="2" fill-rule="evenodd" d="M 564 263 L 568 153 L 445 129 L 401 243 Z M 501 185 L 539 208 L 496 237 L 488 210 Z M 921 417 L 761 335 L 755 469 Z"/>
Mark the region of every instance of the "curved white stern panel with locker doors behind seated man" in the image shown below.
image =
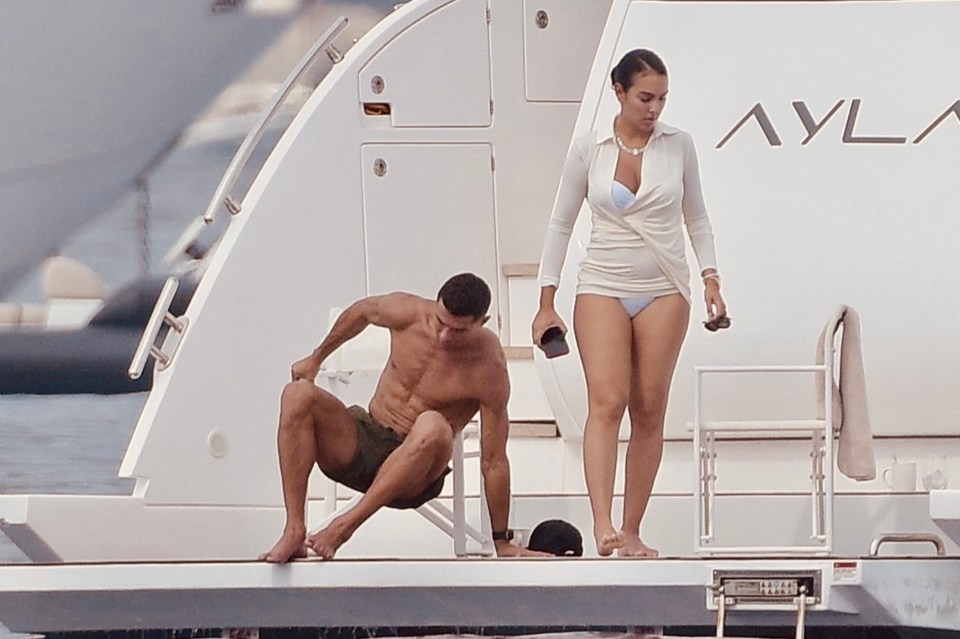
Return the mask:
<path id="1" fill-rule="evenodd" d="M 570 19 L 607 6 L 560 9 Z M 499 331 L 501 265 L 539 253 L 577 112 L 525 99 L 525 11 L 515 0 L 405 4 L 311 95 L 231 220 L 172 365 L 155 376 L 121 468 L 148 503 L 280 503 L 280 391 L 333 308 L 396 289 L 432 297 L 472 270 L 493 289 L 488 326 Z M 600 22 L 553 44 L 592 56 Z M 541 46 L 537 59 L 549 53 Z"/>

